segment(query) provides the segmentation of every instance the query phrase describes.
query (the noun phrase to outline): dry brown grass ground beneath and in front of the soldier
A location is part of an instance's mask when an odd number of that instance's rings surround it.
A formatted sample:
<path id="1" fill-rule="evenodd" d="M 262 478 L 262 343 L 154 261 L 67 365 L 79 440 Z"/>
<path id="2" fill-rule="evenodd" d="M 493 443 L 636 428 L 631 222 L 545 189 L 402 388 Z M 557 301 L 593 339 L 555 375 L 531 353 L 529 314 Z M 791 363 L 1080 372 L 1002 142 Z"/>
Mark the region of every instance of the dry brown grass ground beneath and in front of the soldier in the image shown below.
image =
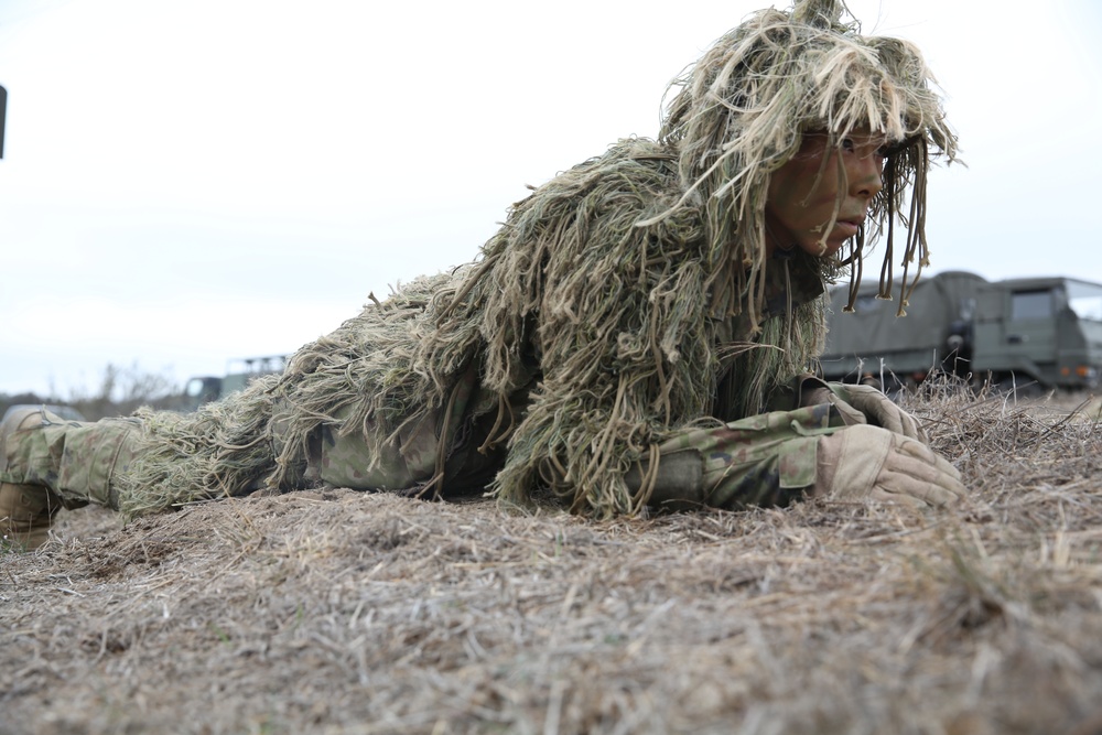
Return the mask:
<path id="1" fill-rule="evenodd" d="M 69 514 L 0 556 L 0 732 L 1102 733 L 1096 408 L 909 400 L 961 508 Z"/>

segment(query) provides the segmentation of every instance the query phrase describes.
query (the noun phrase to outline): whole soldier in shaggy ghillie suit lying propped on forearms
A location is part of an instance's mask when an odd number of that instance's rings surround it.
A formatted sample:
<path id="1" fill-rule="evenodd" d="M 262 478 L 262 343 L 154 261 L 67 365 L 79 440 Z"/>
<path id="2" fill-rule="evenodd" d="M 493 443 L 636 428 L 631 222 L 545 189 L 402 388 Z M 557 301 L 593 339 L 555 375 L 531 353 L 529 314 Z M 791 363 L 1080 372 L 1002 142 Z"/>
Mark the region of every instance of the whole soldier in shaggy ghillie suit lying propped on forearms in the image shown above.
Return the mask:
<path id="1" fill-rule="evenodd" d="M 540 186 L 474 263 L 367 305 L 281 376 L 194 414 L 12 417 L 7 534 L 41 542 L 60 506 L 134 516 L 318 485 L 595 518 L 955 500 L 910 415 L 809 375 L 825 284 L 857 283 L 866 239 L 886 239 L 887 293 L 906 228 L 906 301 L 930 160 L 955 156 L 919 52 L 843 10 L 752 15 L 673 82 L 657 140 Z"/>

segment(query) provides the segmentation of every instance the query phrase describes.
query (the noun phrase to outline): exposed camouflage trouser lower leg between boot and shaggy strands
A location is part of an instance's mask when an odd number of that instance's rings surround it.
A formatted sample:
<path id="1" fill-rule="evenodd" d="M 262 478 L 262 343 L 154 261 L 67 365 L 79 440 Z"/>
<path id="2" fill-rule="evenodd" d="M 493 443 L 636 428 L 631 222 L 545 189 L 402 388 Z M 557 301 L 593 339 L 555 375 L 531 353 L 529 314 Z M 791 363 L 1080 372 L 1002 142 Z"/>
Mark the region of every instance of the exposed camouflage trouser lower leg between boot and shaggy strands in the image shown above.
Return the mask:
<path id="1" fill-rule="evenodd" d="M 111 476 L 133 457 L 139 426 L 134 419 L 86 423 L 43 411 L 41 424 L 7 437 L 0 482 L 47 487 L 66 508 L 89 502 L 118 508 Z"/>

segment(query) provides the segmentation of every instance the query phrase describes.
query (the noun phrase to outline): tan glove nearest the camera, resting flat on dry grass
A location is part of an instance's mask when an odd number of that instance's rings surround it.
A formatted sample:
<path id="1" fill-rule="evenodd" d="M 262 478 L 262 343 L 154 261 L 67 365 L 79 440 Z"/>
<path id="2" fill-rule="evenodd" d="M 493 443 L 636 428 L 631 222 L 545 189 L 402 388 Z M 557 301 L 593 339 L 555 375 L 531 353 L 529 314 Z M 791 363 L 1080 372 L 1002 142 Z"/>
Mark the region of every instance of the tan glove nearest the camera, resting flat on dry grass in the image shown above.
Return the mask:
<path id="1" fill-rule="evenodd" d="M 819 440 L 814 495 L 911 506 L 949 506 L 964 497 L 960 473 L 921 442 L 860 424 Z"/>

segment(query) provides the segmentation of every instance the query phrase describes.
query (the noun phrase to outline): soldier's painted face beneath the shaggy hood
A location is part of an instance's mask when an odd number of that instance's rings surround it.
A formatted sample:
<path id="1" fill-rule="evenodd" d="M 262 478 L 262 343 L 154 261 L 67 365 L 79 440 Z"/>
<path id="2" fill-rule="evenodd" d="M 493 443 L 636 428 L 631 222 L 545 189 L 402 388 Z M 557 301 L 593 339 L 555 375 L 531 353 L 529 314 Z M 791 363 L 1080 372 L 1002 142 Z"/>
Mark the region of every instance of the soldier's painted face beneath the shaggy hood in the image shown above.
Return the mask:
<path id="1" fill-rule="evenodd" d="M 883 136 L 853 133 L 836 149 L 827 141 L 827 133 L 804 133 L 799 152 L 774 172 L 765 205 L 770 251 L 833 255 L 857 234 L 883 187 Z"/>

